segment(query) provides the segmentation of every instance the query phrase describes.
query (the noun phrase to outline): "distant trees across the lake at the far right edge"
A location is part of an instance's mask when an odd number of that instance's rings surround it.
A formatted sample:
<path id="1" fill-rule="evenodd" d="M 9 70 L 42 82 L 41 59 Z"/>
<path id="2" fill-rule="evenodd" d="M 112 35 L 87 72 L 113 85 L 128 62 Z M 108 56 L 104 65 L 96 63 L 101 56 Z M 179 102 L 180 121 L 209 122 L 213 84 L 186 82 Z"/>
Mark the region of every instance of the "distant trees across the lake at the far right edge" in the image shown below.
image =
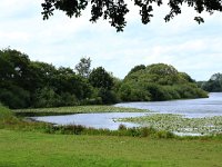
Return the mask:
<path id="1" fill-rule="evenodd" d="M 205 91 L 221 92 L 222 91 L 222 73 L 214 73 L 208 81 L 200 81 L 199 86 Z"/>

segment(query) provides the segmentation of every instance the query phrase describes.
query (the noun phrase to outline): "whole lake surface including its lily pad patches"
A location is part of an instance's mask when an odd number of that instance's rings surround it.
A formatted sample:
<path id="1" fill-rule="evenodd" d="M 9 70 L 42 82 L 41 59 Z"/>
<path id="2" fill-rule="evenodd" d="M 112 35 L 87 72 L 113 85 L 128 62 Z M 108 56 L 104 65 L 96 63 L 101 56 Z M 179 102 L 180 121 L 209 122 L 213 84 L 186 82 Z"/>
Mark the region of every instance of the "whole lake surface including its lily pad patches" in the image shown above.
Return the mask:
<path id="1" fill-rule="evenodd" d="M 48 114 L 54 114 L 54 111 L 64 114 L 65 110 L 77 111 L 77 109 L 79 109 L 79 111 L 83 112 L 32 118 L 38 121 L 56 125 L 82 125 L 85 127 L 117 130 L 119 126 L 123 124 L 127 127 L 153 127 L 158 130 L 191 136 L 222 132 L 222 94 L 220 92 L 210 94 L 210 98 L 208 99 L 127 102 L 118 104 L 115 107 L 82 106 L 72 108 L 30 109 L 23 111 L 29 111 L 30 114 L 43 114 L 46 111 Z M 89 111 L 88 114 L 85 114 L 87 110 Z M 97 110 L 98 112 L 94 114 L 93 111 Z M 117 110 L 119 112 L 115 112 Z M 128 110 L 128 112 L 122 112 L 124 110 Z M 148 112 L 149 110 L 153 112 Z M 19 112 L 19 110 L 17 110 L 17 112 Z"/>

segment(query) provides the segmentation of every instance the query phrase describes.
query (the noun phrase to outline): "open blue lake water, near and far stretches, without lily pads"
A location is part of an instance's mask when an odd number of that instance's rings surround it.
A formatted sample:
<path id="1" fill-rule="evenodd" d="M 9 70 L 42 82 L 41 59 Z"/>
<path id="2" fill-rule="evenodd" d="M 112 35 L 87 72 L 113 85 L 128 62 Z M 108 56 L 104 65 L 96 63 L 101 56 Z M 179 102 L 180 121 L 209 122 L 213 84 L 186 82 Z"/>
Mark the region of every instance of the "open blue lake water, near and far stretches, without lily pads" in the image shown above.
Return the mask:
<path id="1" fill-rule="evenodd" d="M 189 118 L 202 118 L 222 116 L 222 92 L 212 92 L 209 98 L 172 100 L 157 102 L 124 102 L 117 107 L 132 107 L 148 109 L 154 114 L 176 114 Z M 118 129 L 120 124 L 127 127 L 138 127 L 138 124 L 117 122 L 114 119 L 125 117 L 140 117 L 150 112 L 105 112 L 105 114 L 75 114 L 65 116 L 31 117 L 38 121 L 52 122 L 56 125 L 83 125 L 93 128 Z"/>

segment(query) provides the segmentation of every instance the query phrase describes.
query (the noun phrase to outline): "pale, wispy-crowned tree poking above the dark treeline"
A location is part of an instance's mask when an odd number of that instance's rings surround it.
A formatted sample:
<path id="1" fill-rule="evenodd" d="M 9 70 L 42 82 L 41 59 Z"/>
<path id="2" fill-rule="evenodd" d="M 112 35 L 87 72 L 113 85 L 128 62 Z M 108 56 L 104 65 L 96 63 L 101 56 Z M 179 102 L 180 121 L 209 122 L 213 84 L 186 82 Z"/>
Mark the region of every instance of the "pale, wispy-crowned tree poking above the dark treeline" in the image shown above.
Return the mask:
<path id="1" fill-rule="evenodd" d="M 91 59 L 90 58 L 81 58 L 80 62 L 75 66 L 75 70 L 78 75 L 81 77 L 88 78 L 91 70 Z"/>

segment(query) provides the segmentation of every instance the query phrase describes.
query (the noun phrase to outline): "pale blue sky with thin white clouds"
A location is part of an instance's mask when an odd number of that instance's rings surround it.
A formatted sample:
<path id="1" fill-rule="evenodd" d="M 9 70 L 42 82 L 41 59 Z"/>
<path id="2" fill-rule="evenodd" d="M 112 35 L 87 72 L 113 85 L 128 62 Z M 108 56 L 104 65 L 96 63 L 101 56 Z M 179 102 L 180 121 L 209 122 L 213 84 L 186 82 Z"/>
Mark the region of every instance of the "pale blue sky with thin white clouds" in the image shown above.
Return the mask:
<path id="1" fill-rule="evenodd" d="M 10 47 L 33 61 L 74 69 L 82 57 L 90 57 L 92 68 L 104 67 L 123 79 L 137 65 L 168 63 L 195 80 L 208 80 L 222 72 L 222 13 L 203 13 L 204 23 L 188 7 L 170 22 L 163 18 L 165 6 L 154 8 L 154 17 L 142 24 L 139 9 L 129 3 L 128 24 L 117 32 L 108 21 L 91 23 L 90 10 L 81 18 L 68 18 L 57 11 L 43 20 L 42 0 L 1 0 L 0 49 Z"/>

